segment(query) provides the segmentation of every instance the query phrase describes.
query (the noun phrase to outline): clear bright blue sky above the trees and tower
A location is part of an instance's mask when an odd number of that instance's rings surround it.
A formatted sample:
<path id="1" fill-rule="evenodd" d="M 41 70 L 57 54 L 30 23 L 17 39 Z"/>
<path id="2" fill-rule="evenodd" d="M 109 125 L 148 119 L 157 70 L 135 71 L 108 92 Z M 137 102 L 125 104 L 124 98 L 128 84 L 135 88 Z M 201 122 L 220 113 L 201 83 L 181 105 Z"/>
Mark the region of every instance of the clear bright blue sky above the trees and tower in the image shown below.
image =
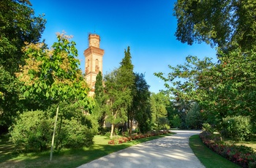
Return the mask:
<path id="1" fill-rule="evenodd" d="M 50 47 L 56 32 L 66 31 L 76 42 L 80 68 L 84 72 L 83 51 L 88 47 L 88 34 L 101 37 L 103 75 L 119 66 L 124 49 L 130 46 L 134 72 L 145 73 L 150 91 L 164 89 L 154 72 L 170 72 L 168 65 L 183 64 L 186 56 L 216 58 L 216 51 L 206 44 L 189 46 L 175 37 L 176 18 L 173 0 L 31 0 L 36 15 L 47 20 L 42 39 Z"/>

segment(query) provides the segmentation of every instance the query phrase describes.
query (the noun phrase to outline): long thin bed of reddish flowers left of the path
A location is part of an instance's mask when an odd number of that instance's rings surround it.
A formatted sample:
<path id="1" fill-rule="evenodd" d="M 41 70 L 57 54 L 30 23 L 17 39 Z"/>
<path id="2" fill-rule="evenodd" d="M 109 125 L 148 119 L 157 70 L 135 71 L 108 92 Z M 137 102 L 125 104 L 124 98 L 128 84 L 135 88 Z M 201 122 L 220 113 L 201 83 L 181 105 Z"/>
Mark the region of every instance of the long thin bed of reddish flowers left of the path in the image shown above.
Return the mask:
<path id="1" fill-rule="evenodd" d="M 121 144 L 121 143 L 125 143 L 125 142 L 129 142 L 131 140 L 140 140 L 140 139 L 143 139 L 143 138 L 147 138 L 147 137 L 154 137 L 154 136 L 158 136 L 160 134 L 170 134 L 170 131 L 154 131 L 154 132 L 150 132 L 150 133 L 147 133 L 147 134 L 133 134 L 129 137 L 118 137 L 114 140 L 110 140 L 108 142 L 108 144 Z"/>

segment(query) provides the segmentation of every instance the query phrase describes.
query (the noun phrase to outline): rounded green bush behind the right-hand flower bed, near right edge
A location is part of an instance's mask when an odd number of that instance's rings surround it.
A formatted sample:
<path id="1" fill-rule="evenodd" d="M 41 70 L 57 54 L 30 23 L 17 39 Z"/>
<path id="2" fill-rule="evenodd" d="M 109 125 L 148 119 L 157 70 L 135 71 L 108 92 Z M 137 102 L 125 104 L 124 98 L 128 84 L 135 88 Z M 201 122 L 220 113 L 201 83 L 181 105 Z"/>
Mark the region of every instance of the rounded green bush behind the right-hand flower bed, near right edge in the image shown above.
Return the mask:
<path id="1" fill-rule="evenodd" d="M 250 140 L 252 137 L 252 125 L 249 117 L 239 115 L 223 118 L 221 134 L 236 141 Z"/>

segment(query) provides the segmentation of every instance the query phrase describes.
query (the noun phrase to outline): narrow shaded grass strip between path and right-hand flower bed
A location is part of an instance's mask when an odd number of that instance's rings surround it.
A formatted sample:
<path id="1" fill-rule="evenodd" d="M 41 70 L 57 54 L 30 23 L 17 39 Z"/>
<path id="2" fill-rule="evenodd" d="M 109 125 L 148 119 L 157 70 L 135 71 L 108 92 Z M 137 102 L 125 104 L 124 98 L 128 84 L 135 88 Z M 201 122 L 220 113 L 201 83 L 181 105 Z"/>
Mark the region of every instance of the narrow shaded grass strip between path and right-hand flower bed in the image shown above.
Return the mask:
<path id="1" fill-rule="evenodd" d="M 210 150 L 200 140 L 198 134 L 193 135 L 189 138 L 189 146 L 192 148 L 195 156 L 201 161 L 206 168 L 236 168 L 239 167 L 237 164 L 219 156 L 214 151 Z"/>

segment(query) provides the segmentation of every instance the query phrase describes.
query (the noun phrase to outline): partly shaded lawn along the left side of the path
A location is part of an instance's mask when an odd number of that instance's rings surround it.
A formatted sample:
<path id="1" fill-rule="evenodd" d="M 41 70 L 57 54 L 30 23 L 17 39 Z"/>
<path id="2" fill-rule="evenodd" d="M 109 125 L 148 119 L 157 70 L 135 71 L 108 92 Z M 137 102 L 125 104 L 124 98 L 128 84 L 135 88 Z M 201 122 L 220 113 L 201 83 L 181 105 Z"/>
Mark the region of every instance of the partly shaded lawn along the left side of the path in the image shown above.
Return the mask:
<path id="1" fill-rule="evenodd" d="M 15 153 L 15 145 L 4 139 L 0 142 L 0 167 L 78 167 L 109 153 L 167 135 L 133 140 L 120 145 L 108 145 L 108 137 L 97 135 L 94 137 L 94 145 L 90 148 L 61 150 L 53 153 L 52 161 L 50 161 L 50 151 L 44 153 Z"/>

